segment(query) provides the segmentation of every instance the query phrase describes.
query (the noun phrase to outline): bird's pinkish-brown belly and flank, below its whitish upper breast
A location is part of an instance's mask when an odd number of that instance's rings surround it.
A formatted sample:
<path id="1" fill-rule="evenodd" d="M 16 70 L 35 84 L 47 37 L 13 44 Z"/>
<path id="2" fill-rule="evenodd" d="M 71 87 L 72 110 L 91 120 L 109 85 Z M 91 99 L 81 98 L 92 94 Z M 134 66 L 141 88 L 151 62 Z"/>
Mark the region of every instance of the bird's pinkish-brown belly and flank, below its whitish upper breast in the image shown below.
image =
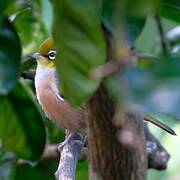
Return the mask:
<path id="1" fill-rule="evenodd" d="M 46 86 L 43 90 L 37 88 L 37 97 L 50 120 L 73 132 L 85 129 L 83 110 L 72 108 L 66 101 L 60 99 L 51 87 Z"/>

